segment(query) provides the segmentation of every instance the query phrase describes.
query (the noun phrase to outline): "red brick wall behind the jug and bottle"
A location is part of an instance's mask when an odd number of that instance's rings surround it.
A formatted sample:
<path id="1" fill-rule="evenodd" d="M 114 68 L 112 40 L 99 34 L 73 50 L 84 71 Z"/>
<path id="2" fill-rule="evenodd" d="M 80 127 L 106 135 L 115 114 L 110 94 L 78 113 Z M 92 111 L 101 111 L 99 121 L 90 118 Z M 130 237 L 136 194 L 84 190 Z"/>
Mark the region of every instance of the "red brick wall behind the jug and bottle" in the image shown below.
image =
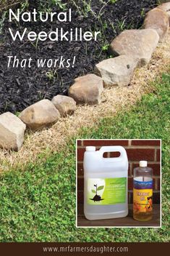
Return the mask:
<path id="1" fill-rule="evenodd" d="M 153 168 L 153 203 L 160 203 L 160 140 L 77 140 L 77 200 L 83 203 L 83 156 L 85 147 L 94 145 L 100 149 L 104 145 L 122 145 L 127 151 L 129 160 L 128 169 L 128 199 L 132 203 L 132 175 L 133 169 L 139 166 L 140 160 L 148 161 L 148 167 Z M 112 153 L 106 153 L 105 157 L 111 157 Z"/>

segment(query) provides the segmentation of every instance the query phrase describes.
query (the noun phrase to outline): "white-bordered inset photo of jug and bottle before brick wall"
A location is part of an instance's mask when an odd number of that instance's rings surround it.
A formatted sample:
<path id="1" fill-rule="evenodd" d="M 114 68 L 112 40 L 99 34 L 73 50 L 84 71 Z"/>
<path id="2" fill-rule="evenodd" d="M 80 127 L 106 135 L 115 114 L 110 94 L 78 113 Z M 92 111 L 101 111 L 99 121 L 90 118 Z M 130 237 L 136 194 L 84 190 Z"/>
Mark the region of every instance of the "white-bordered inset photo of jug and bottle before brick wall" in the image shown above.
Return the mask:
<path id="1" fill-rule="evenodd" d="M 77 228 L 161 227 L 161 140 L 77 140 Z"/>

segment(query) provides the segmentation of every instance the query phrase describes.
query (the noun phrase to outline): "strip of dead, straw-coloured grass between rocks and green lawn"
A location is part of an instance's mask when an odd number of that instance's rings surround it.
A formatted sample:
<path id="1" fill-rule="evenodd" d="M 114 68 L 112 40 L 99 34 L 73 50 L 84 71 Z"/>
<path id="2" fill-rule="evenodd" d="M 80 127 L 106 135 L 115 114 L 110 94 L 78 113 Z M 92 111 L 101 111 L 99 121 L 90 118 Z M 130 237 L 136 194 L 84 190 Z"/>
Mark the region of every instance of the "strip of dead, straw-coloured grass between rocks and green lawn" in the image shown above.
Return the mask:
<path id="1" fill-rule="evenodd" d="M 28 162 L 38 161 L 40 154 L 45 159 L 54 151 L 59 151 L 69 137 L 76 136 L 80 127 L 92 127 L 101 117 L 113 116 L 122 108 L 128 108 L 140 100 L 146 92 L 152 92 L 150 84 L 170 65 L 170 31 L 166 40 L 158 45 L 148 65 L 135 71 L 130 87 L 107 88 L 103 93 L 103 103 L 94 106 L 77 106 L 73 116 L 58 121 L 50 129 L 27 132 L 20 152 L 8 153 L 0 150 L 0 170 L 24 167 Z M 42 161 L 42 158 L 41 158 Z"/>

